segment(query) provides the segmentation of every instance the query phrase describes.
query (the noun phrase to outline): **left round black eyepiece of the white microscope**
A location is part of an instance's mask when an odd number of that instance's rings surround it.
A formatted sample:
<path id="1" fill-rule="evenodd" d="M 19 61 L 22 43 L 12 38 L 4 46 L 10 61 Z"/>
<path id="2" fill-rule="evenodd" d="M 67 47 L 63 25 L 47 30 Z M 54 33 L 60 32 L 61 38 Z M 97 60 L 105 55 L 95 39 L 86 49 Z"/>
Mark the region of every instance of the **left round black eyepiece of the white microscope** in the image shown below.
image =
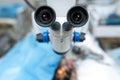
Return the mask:
<path id="1" fill-rule="evenodd" d="M 54 10 L 49 6 L 41 6 L 34 14 L 35 21 L 42 27 L 51 26 L 56 19 Z"/>

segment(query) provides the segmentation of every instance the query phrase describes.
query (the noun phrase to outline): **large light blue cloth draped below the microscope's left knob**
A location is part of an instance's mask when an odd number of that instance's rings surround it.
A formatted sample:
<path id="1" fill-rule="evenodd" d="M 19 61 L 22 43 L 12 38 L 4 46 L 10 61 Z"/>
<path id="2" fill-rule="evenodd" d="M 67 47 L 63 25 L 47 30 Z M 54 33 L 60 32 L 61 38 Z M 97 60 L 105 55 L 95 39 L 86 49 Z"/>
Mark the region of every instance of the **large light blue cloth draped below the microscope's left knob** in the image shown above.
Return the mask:
<path id="1" fill-rule="evenodd" d="M 0 80 L 52 80 L 61 57 L 29 34 L 0 60 Z"/>

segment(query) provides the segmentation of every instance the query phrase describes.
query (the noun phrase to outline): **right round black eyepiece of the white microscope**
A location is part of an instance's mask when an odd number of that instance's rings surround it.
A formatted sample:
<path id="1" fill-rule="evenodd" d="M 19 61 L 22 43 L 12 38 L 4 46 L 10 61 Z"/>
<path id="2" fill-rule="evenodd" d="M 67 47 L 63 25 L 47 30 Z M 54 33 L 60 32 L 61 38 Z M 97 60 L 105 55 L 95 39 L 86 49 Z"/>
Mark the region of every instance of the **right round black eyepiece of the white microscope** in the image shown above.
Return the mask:
<path id="1" fill-rule="evenodd" d="M 67 13 L 67 20 L 73 27 L 82 27 L 88 21 L 88 12 L 81 6 L 72 7 Z"/>

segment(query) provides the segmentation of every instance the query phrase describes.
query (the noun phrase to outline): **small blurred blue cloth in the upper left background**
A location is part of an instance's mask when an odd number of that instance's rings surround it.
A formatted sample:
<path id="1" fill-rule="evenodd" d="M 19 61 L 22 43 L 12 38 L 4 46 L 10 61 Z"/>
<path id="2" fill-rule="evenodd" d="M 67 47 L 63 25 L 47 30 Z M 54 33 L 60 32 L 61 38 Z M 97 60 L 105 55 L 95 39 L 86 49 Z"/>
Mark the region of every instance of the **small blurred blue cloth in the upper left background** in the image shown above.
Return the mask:
<path id="1" fill-rule="evenodd" d="M 0 4 L 0 18 L 16 18 L 20 8 L 24 8 L 21 4 Z"/>

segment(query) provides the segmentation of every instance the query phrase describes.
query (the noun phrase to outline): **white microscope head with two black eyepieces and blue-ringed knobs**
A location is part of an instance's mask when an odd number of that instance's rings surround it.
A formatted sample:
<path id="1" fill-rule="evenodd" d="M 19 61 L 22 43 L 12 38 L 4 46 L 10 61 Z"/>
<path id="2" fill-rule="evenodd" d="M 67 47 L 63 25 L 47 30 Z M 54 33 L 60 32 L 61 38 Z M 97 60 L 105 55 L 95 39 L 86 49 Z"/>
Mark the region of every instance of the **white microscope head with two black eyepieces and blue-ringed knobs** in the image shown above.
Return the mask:
<path id="1" fill-rule="evenodd" d="M 55 53 L 65 54 L 75 42 L 85 40 L 86 33 L 82 30 L 77 32 L 74 28 L 85 28 L 83 26 L 88 22 L 89 15 L 85 8 L 75 5 L 67 10 L 65 16 L 56 13 L 58 12 L 49 5 L 40 6 L 32 14 L 33 27 L 43 29 L 36 33 L 38 42 L 51 42 Z"/>

